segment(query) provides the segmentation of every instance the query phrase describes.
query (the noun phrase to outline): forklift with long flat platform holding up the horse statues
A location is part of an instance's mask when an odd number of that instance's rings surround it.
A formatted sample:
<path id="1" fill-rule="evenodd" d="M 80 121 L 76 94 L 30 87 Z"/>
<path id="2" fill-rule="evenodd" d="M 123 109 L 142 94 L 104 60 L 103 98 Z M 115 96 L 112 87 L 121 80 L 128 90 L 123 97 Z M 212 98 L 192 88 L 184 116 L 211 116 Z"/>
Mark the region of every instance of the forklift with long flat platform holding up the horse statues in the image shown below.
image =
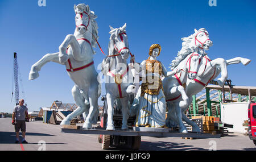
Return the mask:
<path id="1" fill-rule="evenodd" d="M 71 133 L 71 134 L 96 134 L 98 135 L 98 142 L 101 143 L 102 149 L 109 149 L 110 147 L 120 147 L 126 146 L 133 150 L 138 150 L 141 147 L 141 136 L 152 136 L 158 138 L 164 137 L 180 137 L 180 138 L 220 138 L 220 135 L 212 135 L 203 132 L 188 132 L 180 133 L 179 131 L 159 128 L 155 131 L 141 131 L 139 127 L 135 127 L 136 117 L 129 117 L 127 125 L 128 130 L 121 130 L 122 126 L 122 113 L 118 109 L 118 104 L 114 105 L 114 115 L 113 121 L 115 126 L 115 131 L 106 130 L 106 120 L 108 118 L 107 110 L 108 105 L 106 104 L 106 98 L 102 97 L 104 101 L 103 111 L 100 117 L 100 126 L 93 127 L 92 129 L 84 129 L 80 126 L 64 125 L 61 128 L 61 132 Z M 130 103 L 133 102 L 131 97 Z M 158 131 L 159 130 L 159 131 Z M 164 130 L 164 131 L 163 131 Z"/>

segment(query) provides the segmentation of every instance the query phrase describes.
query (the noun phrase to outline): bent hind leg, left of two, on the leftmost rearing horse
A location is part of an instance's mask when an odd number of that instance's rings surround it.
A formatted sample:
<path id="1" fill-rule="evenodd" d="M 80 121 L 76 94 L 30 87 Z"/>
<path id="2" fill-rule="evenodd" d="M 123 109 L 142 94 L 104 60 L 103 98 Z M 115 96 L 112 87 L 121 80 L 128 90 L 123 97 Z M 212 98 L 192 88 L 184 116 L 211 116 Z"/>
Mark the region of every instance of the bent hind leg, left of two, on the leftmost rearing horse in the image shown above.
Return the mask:
<path id="1" fill-rule="evenodd" d="M 79 107 L 77 107 L 77 109 L 75 111 L 73 111 L 65 119 L 63 119 L 63 121 L 60 123 L 61 125 L 65 125 L 65 124 L 69 125 L 70 121 L 73 118 L 81 115 L 82 113 L 84 113 L 86 111 L 86 105 L 84 103 L 84 97 L 80 93 L 80 90 L 77 86 L 73 86 L 72 95 L 73 95 L 73 98 L 75 99 L 77 105 L 79 105 Z"/>

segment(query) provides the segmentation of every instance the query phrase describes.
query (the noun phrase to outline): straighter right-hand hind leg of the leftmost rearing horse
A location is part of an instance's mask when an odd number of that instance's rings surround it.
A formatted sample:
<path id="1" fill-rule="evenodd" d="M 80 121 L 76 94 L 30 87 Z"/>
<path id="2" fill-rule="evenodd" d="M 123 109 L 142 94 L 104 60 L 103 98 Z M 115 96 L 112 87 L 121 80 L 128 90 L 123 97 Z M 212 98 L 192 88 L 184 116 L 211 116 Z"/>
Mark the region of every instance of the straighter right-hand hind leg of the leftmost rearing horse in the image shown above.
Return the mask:
<path id="1" fill-rule="evenodd" d="M 85 123 L 83 124 L 83 128 L 90 129 L 92 128 L 92 124 L 97 124 L 98 122 L 98 85 L 90 86 L 88 91 L 90 109 L 89 113 L 86 117 Z"/>

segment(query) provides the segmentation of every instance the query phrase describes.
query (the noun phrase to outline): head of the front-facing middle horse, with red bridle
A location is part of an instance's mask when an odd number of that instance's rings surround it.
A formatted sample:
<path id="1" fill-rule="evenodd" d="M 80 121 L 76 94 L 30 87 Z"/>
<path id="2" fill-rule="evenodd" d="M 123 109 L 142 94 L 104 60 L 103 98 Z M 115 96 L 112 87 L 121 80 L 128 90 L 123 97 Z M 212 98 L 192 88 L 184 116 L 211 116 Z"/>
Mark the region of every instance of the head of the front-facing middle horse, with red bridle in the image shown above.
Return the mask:
<path id="1" fill-rule="evenodd" d="M 129 43 L 126 35 L 126 23 L 123 27 L 110 27 L 109 56 L 120 55 L 123 60 L 127 60 L 130 54 Z"/>

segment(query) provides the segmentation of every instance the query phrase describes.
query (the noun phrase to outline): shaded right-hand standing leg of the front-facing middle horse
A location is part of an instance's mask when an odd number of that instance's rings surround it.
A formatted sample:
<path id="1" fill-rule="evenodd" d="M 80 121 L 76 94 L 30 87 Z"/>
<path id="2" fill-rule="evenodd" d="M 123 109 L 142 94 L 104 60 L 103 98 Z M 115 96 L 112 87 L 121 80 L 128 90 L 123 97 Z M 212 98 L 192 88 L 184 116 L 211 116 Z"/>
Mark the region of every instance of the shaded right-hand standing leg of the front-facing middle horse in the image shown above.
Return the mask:
<path id="1" fill-rule="evenodd" d="M 128 109 L 129 95 L 127 95 L 124 98 L 121 98 L 120 101 L 122 105 L 122 115 L 123 115 L 122 130 L 127 130 L 128 129 L 127 121 L 129 118 L 129 109 Z"/>

